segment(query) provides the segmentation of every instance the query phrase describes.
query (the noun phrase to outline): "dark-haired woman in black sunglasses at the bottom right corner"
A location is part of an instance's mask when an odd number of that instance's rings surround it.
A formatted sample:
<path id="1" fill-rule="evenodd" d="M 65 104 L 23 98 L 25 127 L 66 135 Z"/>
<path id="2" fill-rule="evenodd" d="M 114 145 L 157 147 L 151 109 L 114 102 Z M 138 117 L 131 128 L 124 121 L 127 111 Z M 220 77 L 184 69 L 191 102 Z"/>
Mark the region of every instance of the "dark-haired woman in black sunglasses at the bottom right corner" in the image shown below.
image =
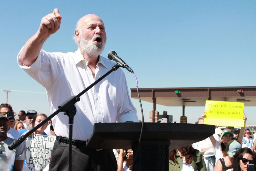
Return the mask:
<path id="1" fill-rule="evenodd" d="M 256 153 L 250 148 L 241 148 L 233 156 L 233 171 L 247 171 L 247 164 L 256 163 Z"/>

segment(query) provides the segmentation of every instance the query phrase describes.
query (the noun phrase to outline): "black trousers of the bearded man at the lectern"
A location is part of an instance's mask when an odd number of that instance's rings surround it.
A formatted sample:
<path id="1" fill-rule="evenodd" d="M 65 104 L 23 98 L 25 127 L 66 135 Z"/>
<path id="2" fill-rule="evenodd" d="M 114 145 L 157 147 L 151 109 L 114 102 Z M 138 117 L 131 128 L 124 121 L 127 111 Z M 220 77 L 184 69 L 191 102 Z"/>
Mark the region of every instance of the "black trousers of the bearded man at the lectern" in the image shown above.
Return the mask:
<path id="1" fill-rule="evenodd" d="M 75 171 L 116 171 L 117 161 L 112 150 L 99 150 L 72 146 L 72 170 Z M 68 171 L 69 145 L 54 143 L 49 171 Z"/>

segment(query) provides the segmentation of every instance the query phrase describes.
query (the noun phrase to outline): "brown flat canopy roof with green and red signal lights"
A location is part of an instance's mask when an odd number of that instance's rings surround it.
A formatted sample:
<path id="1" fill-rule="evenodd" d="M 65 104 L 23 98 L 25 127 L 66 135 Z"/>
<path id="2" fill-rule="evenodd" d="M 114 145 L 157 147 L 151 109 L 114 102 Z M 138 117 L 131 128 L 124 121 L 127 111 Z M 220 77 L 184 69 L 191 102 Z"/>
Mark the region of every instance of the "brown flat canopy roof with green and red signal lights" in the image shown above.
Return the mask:
<path id="1" fill-rule="evenodd" d="M 238 89 L 243 92 L 239 93 Z M 176 94 L 176 90 L 179 93 Z M 256 86 L 140 88 L 139 91 L 141 100 L 165 106 L 205 106 L 206 100 L 236 101 L 245 106 L 256 106 Z M 131 88 L 131 97 L 138 99 L 136 88 Z"/>

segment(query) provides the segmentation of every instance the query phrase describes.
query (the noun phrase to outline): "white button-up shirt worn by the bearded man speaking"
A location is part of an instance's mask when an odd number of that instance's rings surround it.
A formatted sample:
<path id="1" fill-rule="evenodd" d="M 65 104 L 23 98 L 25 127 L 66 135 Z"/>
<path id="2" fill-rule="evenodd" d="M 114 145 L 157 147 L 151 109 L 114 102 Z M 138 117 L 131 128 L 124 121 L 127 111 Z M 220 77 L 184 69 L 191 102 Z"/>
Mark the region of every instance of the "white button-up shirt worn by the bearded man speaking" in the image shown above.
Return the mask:
<path id="1" fill-rule="evenodd" d="M 20 53 L 18 54 L 19 57 Z M 93 78 L 87 60 L 80 50 L 76 52 L 49 53 L 40 50 L 31 66 L 18 60 L 20 68 L 46 88 L 51 113 L 72 95 L 77 95 L 95 80 L 108 72 L 114 62 L 100 56 Z M 86 141 L 93 132 L 94 123 L 138 122 L 136 109 L 131 103 L 126 78 L 121 69 L 106 78 L 80 97 L 75 104 L 73 139 Z M 69 137 L 68 116 L 59 113 L 52 118 L 55 134 Z"/>

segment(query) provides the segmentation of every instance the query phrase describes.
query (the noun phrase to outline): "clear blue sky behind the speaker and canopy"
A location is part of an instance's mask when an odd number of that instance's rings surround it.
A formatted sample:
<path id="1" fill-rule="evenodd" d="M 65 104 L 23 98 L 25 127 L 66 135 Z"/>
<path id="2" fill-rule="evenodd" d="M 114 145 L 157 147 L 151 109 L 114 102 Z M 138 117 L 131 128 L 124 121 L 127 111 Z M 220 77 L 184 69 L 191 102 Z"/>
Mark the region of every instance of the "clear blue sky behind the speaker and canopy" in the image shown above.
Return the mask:
<path id="1" fill-rule="evenodd" d="M 83 15 L 102 18 L 107 44 L 102 56 L 115 50 L 133 68 L 140 88 L 255 86 L 256 1 L 0 1 L 0 100 L 9 93 L 15 111 L 34 109 L 49 115 L 44 88 L 17 65 L 17 54 L 38 29 L 42 17 L 58 8 L 60 30 L 43 49 L 77 50 L 72 39 Z M 128 88 L 135 88 L 125 72 Z M 41 93 L 26 93 L 32 91 Z M 139 101 L 133 99 L 141 119 Z M 152 103 L 143 102 L 145 121 Z M 179 122 L 182 107 L 157 105 Z M 246 125 L 256 125 L 256 107 L 245 107 Z M 188 123 L 195 123 L 204 107 L 186 107 Z"/>

